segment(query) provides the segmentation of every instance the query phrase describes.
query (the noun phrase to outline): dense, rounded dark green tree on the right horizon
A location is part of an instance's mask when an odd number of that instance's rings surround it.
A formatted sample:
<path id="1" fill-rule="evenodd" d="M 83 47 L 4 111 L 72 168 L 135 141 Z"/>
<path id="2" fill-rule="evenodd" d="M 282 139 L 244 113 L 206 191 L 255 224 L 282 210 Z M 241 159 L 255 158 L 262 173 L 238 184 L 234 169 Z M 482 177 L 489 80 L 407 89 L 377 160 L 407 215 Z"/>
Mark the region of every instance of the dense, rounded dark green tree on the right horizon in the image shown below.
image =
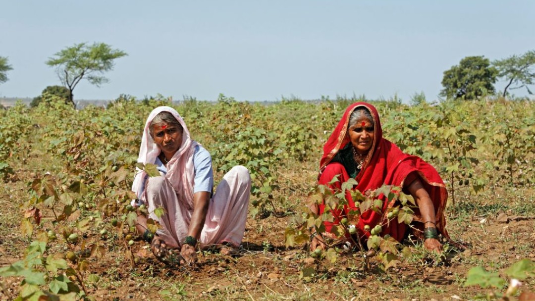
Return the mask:
<path id="1" fill-rule="evenodd" d="M 448 98 L 475 99 L 494 93 L 498 70 L 484 56 L 463 58 L 459 65 L 444 72 L 440 95 Z"/>

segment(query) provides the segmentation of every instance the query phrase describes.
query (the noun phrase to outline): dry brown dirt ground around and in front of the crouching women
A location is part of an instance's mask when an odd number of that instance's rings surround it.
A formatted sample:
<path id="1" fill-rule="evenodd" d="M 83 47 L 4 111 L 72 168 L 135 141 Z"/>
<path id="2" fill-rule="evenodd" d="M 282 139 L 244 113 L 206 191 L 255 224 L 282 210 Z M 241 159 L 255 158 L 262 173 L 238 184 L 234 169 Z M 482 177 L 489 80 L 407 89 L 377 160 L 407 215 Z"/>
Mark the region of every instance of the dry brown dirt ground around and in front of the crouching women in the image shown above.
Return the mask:
<path id="1" fill-rule="evenodd" d="M 0 186 L 0 267 L 21 259 L 29 243 L 19 234 L 19 205 L 27 198 L 28 179 L 40 172 L 44 171 L 28 166 L 18 181 Z M 282 193 L 288 202 L 300 202 L 303 195 L 295 191 Z M 165 265 L 155 259 L 147 243 L 136 238 L 132 250 L 137 262 L 132 268 L 120 244 L 108 243 L 103 258 L 90 258 L 89 271 L 100 281 L 87 290 L 97 300 L 472 300 L 491 290 L 464 286 L 470 268 L 483 266 L 505 277 L 503 270 L 518 260 L 535 260 L 533 214 L 502 212 L 496 206 L 505 198 L 512 204 L 513 195 L 515 204 L 534 202 L 526 191 L 487 190 L 478 199 L 490 200 L 488 205 L 477 206 L 469 206 L 475 197 L 459 197 L 455 210 L 448 211 L 447 229 L 454 241 L 466 243 L 468 249 L 450 248 L 439 258 L 427 254 L 421 244 L 406 243 L 414 256 L 386 272 L 373 260 L 364 269 L 364 259 L 357 253 L 341 254 L 331 264 L 311 258 L 307 245 L 286 248 L 285 228 L 291 216 L 270 216 L 248 219 L 238 256 L 199 252 L 198 263 L 192 266 Z M 62 251 L 59 245 L 52 248 Z M 303 279 L 307 267 L 315 273 Z M 17 295 L 20 279 L 0 277 L 0 283 L 0 300 Z M 535 291 L 535 281 L 524 283 L 523 289 Z"/>

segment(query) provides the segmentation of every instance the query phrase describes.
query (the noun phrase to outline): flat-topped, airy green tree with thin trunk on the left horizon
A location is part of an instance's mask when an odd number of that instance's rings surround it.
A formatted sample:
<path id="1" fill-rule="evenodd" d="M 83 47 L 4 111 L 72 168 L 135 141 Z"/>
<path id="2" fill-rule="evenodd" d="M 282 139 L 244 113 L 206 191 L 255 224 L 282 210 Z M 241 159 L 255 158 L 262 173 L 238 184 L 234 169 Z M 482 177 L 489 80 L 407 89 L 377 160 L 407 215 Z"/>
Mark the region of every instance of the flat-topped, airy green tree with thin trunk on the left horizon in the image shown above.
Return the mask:
<path id="1" fill-rule="evenodd" d="M 57 67 L 59 80 L 69 90 L 68 100 L 75 105 L 72 91 L 82 79 L 100 87 L 109 82 L 102 74 L 113 69 L 113 60 L 126 55 L 126 52 L 111 49 L 105 43 L 80 43 L 57 52 L 46 63 Z"/>

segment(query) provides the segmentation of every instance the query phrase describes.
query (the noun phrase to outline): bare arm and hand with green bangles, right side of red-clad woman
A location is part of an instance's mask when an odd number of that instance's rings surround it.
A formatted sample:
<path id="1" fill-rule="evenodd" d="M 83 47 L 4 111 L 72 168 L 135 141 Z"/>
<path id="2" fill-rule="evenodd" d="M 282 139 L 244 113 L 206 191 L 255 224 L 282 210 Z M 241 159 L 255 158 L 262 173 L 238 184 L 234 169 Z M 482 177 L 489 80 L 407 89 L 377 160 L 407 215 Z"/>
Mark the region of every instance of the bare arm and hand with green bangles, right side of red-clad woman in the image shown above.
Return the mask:
<path id="1" fill-rule="evenodd" d="M 434 205 L 431 200 L 431 197 L 425 190 L 422 182 L 419 179 L 414 180 L 409 187 L 407 188 L 416 200 L 416 204 L 420 209 L 420 214 L 422 214 L 422 221 L 424 222 L 424 228 L 436 228 Z M 427 238 L 424 241 L 424 246 L 427 250 L 430 251 L 442 251 L 442 244 L 436 238 Z"/>

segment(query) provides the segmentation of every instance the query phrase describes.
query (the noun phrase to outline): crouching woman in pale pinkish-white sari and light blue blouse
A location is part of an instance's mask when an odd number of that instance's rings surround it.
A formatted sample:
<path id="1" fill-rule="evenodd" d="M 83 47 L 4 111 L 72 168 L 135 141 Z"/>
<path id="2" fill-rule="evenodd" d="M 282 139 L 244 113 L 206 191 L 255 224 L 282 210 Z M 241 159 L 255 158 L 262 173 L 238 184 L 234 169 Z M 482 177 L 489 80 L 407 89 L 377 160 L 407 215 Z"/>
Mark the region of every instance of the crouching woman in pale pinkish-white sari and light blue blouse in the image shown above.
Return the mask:
<path id="1" fill-rule="evenodd" d="M 184 120 L 169 106 L 154 109 L 145 124 L 139 163 L 158 166 L 161 176 L 138 170 L 132 190 L 135 205 L 148 207 L 149 217 L 161 229 L 152 237 L 147 217 L 139 215 L 137 231 L 151 243 L 156 257 L 178 248 L 187 263 L 196 260 L 196 248 L 218 246 L 232 254 L 241 244 L 251 189 L 249 171 L 233 167 L 213 191 L 210 153 L 189 135 Z M 154 210 L 164 209 L 157 217 Z"/>

